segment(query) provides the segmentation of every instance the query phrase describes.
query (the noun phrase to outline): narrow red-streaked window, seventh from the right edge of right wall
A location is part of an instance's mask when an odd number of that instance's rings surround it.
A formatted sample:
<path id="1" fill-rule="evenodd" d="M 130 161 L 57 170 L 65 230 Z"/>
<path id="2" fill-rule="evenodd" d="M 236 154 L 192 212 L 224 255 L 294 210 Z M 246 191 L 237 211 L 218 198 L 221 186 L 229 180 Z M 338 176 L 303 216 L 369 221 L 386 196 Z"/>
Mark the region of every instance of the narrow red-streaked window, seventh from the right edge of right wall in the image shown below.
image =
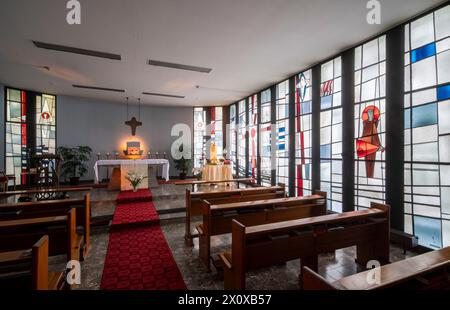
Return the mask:
<path id="1" fill-rule="evenodd" d="M 249 150 L 248 176 L 258 178 L 258 95 L 248 98 Z"/>

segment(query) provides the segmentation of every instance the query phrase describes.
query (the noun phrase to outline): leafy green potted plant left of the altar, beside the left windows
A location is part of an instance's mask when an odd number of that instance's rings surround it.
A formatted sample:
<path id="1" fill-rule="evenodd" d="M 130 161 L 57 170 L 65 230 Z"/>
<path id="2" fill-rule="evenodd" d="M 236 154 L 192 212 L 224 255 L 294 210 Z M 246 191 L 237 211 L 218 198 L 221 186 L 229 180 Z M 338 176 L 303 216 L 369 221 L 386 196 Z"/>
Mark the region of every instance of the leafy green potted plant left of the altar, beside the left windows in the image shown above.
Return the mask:
<path id="1" fill-rule="evenodd" d="M 89 146 L 58 147 L 58 154 L 63 158 L 61 174 L 69 178 L 70 185 L 78 185 L 80 178 L 87 173 L 86 162 L 91 158 L 91 153 Z"/>

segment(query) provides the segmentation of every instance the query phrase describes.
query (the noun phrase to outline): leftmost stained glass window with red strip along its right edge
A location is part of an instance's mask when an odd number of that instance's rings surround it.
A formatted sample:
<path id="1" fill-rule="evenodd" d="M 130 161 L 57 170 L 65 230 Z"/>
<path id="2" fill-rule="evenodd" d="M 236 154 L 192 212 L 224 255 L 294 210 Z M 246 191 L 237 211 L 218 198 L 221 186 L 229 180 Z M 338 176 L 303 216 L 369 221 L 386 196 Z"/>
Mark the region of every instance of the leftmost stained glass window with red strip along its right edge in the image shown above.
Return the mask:
<path id="1" fill-rule="evenodd" d="M 15 175 L 16 184 L 25 184 L 27 168 L 27 101 L 26 92 L 6 91 L 6 174 Z"/>

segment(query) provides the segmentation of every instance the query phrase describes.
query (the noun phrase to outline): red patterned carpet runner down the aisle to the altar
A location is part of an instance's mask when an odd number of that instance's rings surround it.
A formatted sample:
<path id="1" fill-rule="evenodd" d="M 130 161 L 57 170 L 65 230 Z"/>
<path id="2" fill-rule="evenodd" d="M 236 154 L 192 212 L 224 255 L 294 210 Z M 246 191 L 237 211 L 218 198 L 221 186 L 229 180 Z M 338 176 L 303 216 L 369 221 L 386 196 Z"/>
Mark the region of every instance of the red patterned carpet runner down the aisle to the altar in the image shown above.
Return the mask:
<path id="1" fill-rule="evenodd" d="M 110 233 L 100 289 L 185 290 L 150 191 L 122 192 L 117 200 L 111 228 L 122 229 Z"/>

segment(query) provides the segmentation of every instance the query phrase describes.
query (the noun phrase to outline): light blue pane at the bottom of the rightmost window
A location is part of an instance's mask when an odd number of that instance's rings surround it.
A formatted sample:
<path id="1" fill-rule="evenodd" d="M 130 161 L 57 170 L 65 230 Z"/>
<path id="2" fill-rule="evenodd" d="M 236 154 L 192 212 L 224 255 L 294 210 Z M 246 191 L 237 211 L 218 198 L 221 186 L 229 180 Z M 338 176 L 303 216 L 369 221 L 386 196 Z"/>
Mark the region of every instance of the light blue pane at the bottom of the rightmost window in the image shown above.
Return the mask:
<path id="1" fill-rule="evenodd" d="M 420 245 L 432 249 L 442 247 L 441 220 L 415 216 L 414 231 Z"/>

